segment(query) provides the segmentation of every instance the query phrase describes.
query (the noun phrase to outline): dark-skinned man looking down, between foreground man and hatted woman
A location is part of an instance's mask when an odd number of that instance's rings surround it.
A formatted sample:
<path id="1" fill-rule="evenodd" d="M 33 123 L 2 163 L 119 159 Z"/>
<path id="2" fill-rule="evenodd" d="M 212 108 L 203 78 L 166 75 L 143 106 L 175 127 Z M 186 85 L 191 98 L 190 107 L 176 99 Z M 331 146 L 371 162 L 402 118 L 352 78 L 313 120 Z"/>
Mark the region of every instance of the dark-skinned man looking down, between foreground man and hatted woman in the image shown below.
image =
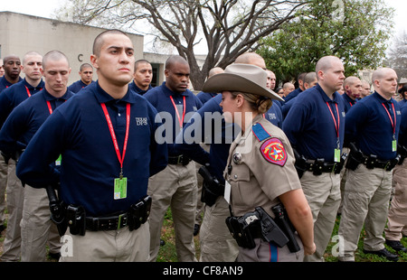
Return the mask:
<path id="1" fill-rule="evenodd" d="M 188 89 L 190 68 L 179 55 L 166 60 L 166 81 L 144 95 L 161 114 L 168 148 L 168 165 L 151 177 L 148 193 L 153 198 L 150 215 L 150 261 L 156 261 L 160 233 L 166 210 L 171 207 L 175 223 L 175 247 L 180 262 L 196 260 L 194 248 L 194 213 L 197 179 L 195 165 L 185 154 L 175 151 L 175 136 L 183 129 L 202 102 Z"/>

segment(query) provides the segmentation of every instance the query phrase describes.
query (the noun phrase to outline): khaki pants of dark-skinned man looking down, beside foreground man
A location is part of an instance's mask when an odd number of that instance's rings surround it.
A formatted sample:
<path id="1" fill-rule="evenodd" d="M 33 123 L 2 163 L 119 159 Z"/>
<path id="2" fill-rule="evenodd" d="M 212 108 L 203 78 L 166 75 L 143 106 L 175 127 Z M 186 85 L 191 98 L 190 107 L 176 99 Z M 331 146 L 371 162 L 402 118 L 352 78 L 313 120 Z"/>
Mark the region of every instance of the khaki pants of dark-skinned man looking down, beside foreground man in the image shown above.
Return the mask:
<path id="1" fill-rule="evenodd" d="M 171 207 L 173 215 L 178 261 L 196 261 L 194 220 L 197 182 L 194 162 L 186 166 L 168 164 L 165 170 L 150 177 L 147 192 L 153 199 L 150 212 L 150 261 L 156 261 L 161 228 L 168 207 Z"/>

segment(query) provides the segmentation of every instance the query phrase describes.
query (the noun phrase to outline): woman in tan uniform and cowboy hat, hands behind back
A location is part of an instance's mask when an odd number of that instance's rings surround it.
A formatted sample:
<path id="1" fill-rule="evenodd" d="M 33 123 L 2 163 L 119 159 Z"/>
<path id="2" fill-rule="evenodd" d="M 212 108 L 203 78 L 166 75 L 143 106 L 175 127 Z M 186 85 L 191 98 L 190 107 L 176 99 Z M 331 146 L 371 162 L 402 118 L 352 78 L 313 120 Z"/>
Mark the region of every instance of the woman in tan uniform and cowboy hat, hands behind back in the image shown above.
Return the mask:
<path id="1" fill-rule="evenodd" d="M 302 261 L 315 251 L 312 214 L 287 136 L 262 116 L 280 99 L 266 82 L 266 71 L 234 63 L 204 84 L 204 91 L 222 92 L 225 121 L 241 127 L 225 170 L 226 223 L 240 246 L 238 261 Z"/>

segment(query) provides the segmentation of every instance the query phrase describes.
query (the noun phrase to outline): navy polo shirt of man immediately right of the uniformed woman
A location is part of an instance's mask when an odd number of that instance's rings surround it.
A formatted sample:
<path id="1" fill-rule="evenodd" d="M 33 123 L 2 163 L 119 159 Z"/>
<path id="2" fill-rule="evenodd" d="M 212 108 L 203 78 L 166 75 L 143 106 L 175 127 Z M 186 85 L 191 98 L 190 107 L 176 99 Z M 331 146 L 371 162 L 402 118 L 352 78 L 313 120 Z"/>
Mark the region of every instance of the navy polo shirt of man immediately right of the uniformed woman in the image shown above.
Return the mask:
<path id="1" fill-rule="evenodd" d="M 341 151 L 344 144 L 345 110 L 340 95 L 335 92 L 333 99 L 328 98 L 324 90 L 317 85 L 296 99 L 283 123 L 283 131 L 289 137 L 289 142 L 298 154 L 307 159 L 325 159 L 327 163 L 333 163 L 338 141 L 338 123 Z"/>

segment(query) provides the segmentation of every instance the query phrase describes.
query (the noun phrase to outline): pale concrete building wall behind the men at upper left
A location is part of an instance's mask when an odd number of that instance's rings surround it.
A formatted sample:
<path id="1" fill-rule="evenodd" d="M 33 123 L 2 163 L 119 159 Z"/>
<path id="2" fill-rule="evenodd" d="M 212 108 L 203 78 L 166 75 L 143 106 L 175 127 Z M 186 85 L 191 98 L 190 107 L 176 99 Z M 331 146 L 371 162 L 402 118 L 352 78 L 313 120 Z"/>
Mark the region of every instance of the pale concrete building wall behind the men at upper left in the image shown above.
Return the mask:
<path id="1" fill-rule="evenodd" d="M 62 51 L 71 64 L 70 85 L 80 79 L 80 65 L 90 63 L 93 40 L 104 30 L 32 15 L 0 12 L 0 58 L 15 54 L 23 59 L 28 51 L 42 55 L 52 50 Z M 142 59 L 144 37 L 131 33 L 128 36 L 134 44 L 136 60 Z M 93 79 L 97 79 L 96 73 Z"/>

